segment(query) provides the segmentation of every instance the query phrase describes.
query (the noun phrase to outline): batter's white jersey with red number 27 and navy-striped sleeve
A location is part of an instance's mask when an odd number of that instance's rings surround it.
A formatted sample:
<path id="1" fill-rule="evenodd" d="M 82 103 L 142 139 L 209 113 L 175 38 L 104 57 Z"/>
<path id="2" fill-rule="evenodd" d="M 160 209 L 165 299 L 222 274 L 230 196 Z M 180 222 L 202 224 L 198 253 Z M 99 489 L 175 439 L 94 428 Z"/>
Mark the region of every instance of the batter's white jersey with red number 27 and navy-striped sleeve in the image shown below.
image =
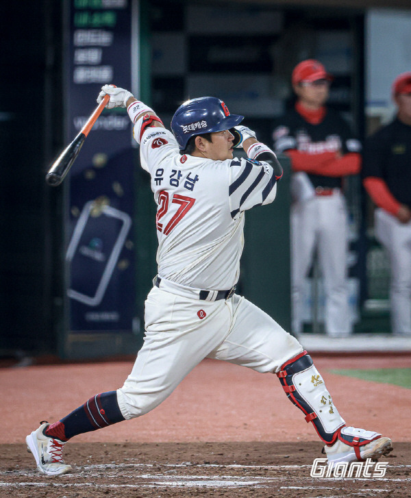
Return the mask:
<path id="1" fill-rule="evenodd" d="M 134 136 L 140 136 L 140 122 Z M 180 155 L 173 134 L 161 127 L 142 134 L 140 158 L 158 204 L 158 275 L 193 288 L 232 288 L 240 271 L 244 211 L 275 199 L 271 166 Z"/>

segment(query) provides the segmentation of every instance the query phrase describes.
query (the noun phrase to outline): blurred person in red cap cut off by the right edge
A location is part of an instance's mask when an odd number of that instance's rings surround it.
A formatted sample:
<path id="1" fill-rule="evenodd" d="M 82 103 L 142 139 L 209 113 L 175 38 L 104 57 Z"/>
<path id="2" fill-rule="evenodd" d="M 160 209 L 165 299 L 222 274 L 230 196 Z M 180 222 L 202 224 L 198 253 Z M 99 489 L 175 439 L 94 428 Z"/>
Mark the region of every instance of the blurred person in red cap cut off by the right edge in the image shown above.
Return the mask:
<path id="1" fill-rule="evenodd" d="M 367 138 L 363 184 L 378 206 L 375 236 L 390 259 L 391 327 L 411 336 L 411 72 L 393 83 L 397 115 Z"/>

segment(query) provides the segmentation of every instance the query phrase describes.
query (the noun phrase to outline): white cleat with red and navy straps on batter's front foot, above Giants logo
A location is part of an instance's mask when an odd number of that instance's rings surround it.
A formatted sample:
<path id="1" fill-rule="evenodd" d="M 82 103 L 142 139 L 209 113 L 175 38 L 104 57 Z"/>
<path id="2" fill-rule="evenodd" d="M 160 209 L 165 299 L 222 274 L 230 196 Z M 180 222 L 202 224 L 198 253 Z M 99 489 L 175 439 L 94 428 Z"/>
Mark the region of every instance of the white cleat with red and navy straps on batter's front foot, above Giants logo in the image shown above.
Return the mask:
<path id="1" fill-rule="evenodd" d="M 393 451 L 390 438 L 382 437 L 378 432 L 343 427 L 336 443 L 325 446 L 328 463 L 361 462 L 367 458 L 377 460 Z"/>

